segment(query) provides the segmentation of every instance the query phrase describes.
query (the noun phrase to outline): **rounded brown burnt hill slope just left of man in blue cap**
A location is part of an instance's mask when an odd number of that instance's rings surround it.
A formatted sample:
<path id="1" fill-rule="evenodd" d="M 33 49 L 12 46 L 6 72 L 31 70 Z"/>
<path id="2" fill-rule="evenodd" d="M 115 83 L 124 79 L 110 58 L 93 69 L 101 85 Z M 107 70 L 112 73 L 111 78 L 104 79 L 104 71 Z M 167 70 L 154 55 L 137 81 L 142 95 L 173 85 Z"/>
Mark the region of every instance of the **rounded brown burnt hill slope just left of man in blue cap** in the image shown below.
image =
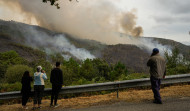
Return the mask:
<path id="1" fill-rule="evenodd" d="M 149 54 L 135 45 L 109 45 L 102 51 L 102 58 L 109 63 L 124 63 L 134 72 L 148 72 Z"/>

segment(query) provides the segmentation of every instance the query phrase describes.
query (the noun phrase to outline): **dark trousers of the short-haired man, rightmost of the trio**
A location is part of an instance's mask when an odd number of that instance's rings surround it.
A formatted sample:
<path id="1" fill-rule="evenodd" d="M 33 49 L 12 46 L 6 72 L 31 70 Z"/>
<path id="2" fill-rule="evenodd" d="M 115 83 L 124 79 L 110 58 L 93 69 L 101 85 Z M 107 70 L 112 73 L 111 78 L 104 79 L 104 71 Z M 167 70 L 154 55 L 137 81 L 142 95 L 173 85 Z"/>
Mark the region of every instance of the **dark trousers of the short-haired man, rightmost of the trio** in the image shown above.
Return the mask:
<path id="1" fill-rule="evenodd" d="M 52 84 L 52 92 L 51 92 L 51 104 L 53 105 L 53 100 L 54 100 L 54 105 L 57 104 L 57 98 L 59 95 L 59 92 L 61 90 L 62 85 L 55 85 Z"/>

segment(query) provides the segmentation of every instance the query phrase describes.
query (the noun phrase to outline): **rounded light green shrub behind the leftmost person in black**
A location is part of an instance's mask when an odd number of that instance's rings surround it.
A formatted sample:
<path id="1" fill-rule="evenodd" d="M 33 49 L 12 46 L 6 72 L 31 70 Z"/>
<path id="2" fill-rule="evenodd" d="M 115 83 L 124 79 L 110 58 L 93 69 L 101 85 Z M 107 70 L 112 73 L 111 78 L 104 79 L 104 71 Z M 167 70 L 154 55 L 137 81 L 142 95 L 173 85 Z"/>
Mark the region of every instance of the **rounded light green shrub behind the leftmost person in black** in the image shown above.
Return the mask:
<path id="1" fill-rule="evenodd" d="M 26 65 L 14 65 L 9 67 L 5 73 L 5 79 L 8 83 L 20 82 L 25 71 L 29 71 L 30 75 L 33 76 L 32 68 Z"/>

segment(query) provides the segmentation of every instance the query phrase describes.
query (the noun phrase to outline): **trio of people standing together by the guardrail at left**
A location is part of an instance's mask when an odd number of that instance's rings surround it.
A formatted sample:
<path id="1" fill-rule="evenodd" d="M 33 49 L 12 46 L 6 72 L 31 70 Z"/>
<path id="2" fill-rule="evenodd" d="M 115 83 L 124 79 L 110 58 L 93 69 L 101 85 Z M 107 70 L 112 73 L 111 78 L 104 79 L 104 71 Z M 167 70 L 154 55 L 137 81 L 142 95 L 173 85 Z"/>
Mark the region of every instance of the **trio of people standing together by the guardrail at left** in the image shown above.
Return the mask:
<path id="1" fill-rule="evenodd" d="M 33 110 L 41 108 L 41 101 L 44 91 L 44 80 L 47 79 L 47 75 L 41 66 L 37 67 L 37 71 L 34 73 L 34 97 L 33 97 Z M 25 71 L 21 80 L 22 83 L 22 107 L 28 109 L 26 103 L 31 95 L 31 82 L 33 81 L 29 71 Z M 50 107 L 58 107 L 57 99 L 58 94 L 63 85 L 63 74 L 60 69 L 60 62 L 56 62 L 56 67 L 51 71 L 50 82 L 52 83 L 51 103 Z"/>

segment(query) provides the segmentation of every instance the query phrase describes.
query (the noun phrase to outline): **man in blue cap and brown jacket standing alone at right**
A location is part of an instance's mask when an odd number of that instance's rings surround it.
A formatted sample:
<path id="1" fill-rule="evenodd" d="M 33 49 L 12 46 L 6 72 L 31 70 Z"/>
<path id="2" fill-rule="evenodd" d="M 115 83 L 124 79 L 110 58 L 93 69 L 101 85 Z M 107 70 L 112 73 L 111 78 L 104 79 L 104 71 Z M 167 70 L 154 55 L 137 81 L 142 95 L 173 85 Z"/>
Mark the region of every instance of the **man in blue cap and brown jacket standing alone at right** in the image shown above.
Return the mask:
<path id="1" fill-rule="evenodd" d="M 147 62 L 147 66 L 150 67 L 150 81 L 154 93 L 153 103 L 162 104 L 159 90 L 161 79 L 164 79 L 166 75 L 166 61 L 160 56 L 159 49 L 153 49 L 151 57 Z"/>

